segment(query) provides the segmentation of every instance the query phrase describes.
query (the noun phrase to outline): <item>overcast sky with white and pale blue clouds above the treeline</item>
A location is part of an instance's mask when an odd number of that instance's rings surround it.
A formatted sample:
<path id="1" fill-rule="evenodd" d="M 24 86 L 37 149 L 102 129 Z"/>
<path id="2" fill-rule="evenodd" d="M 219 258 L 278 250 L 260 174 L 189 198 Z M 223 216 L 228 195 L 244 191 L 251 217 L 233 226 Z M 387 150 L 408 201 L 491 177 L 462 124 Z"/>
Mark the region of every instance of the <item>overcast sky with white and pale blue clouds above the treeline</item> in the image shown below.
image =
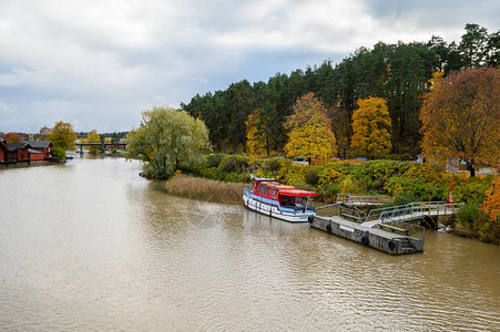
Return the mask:
<path id="1" fill-rule="evenodd" d="M 129 131 L 241 80 L 359 46 L 499 30 L 493 0 L 0 0 L 0 132 Z"/>

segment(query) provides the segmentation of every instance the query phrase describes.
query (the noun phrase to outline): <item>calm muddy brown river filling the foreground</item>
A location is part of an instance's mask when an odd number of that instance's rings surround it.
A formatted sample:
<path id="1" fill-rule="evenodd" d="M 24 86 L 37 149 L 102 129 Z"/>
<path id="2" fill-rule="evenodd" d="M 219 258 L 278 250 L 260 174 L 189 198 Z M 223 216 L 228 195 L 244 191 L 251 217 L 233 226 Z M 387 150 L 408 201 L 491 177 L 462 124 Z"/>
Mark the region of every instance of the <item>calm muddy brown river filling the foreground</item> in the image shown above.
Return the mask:
<path id="1" fill-rule="evenodd" d="M 392 257 L 172 197 L 124 159 L 0 169 L 2 331 L 500 331 L 500 248 Z"/>

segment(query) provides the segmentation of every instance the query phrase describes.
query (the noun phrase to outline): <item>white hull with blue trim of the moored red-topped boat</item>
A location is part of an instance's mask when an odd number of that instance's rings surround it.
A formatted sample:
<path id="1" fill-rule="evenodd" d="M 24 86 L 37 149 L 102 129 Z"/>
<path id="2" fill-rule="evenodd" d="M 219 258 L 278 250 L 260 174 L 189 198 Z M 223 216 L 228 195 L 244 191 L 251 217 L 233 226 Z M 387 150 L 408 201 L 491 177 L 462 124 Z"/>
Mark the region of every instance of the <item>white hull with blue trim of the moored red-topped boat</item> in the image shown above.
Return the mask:
<path id="1" fill-rule="evenodd" d="M 282 208 L 277 204 L 258 199 L 254 195 L 243 194 L 243 201 L 251 210 L 261 212 L 263 215 L 278 218 L 288 222 L 309 222 L 309 217 L 314 218 L 315 212 L 313 210 L 293 210 L 289 208 Z"/>

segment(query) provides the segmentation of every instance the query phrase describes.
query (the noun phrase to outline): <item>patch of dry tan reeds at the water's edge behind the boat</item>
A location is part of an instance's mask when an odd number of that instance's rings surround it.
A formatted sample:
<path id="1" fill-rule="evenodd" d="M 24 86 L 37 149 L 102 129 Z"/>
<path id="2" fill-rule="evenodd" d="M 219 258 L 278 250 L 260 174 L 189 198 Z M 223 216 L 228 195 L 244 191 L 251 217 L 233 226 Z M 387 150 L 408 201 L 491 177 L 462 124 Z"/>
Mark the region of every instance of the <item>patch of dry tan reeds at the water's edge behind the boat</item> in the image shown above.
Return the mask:
<path id="1" fill-rule="evenodd" d="M 165 183 L 165 191 L 191 199 L 222 204 L 242 204 L 244 184 L 221 183 L 212 179 L 176 175 Z"/>

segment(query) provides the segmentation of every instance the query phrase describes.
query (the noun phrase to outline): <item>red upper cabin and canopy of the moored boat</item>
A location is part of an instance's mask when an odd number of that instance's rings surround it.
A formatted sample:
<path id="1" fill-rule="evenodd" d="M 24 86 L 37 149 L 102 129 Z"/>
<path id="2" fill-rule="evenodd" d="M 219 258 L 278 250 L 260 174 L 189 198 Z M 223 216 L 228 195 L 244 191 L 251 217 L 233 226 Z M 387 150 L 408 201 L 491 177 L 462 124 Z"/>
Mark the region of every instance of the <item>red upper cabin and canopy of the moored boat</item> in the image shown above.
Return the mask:
<path id="1" fill-rule="evenodd" d="M 316 193 L 296 189 L 294 186 L 285 186 L 274 178 L 252 178 L 252 193 L 263 198 L 278 201 L 283 207 L 307 207 L 310 197 Z"/>

